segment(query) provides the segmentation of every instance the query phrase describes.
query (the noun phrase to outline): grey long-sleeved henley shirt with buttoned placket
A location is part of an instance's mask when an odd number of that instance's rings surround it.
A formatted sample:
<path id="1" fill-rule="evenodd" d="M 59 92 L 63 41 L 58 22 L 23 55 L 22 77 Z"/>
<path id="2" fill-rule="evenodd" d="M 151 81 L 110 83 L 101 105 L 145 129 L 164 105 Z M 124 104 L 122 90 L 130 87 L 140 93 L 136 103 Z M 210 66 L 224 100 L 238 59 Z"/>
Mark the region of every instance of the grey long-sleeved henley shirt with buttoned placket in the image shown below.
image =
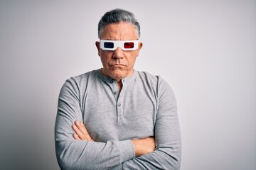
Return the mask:
<path id="1" fill-rule="evenodd" d="M 58 99 L 55 149 L 61 169 L 179 169 L 181 133 L 171 87 L 146 72 L 117 81 L 101 69 L 65 81 Z M 85 124 L 95 142 L 74 140 Z M 154 152 L 134 155 L 132 139 L 154 137 Z"/>

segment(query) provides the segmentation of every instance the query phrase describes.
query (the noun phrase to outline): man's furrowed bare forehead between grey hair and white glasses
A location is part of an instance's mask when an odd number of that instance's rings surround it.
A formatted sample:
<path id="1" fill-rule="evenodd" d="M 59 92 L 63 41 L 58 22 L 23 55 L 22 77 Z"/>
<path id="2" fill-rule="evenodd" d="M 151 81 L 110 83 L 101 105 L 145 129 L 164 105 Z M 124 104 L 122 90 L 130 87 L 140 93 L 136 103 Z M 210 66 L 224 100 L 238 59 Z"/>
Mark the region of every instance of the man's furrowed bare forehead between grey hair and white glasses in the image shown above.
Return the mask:
<path id="1" fill-rule="evenodd" d="M 137 40 L 138 38 L 134 24 L 126 22 L 108 24 L 100 36 L 102 40 Z"/>

